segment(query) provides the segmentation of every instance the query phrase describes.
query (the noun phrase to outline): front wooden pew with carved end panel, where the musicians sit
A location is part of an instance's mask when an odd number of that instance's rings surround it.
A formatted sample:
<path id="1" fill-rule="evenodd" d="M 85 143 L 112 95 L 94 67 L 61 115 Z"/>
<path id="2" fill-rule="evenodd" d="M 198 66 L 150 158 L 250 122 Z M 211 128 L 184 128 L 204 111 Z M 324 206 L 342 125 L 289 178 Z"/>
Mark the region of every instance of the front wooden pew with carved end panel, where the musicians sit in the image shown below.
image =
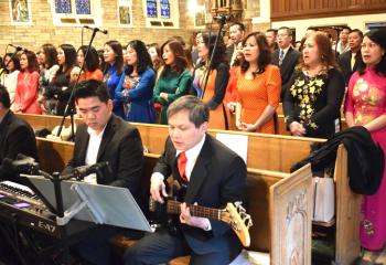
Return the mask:
<path id="1" fill-rule="evenodd" d="M 61 171 L 63 166 L 72 158 L 74 144 L 37 138 L 37 148 L 42 170 L 49 172 L 51 170 Z M 52 153 L 55 153 L 54 161 L 52 161 Z M 146 153 L 144 156 L 146 168 L 148 169 L 146 174 L 149 178 L 159 155 Z M 310 264 L 312 221 L 310 166 L 303 167 L 292 174 L 248 169 L 247 197 L 249 202 L 248 213 L 255 220 L 255 225 L 250 229 L 251 244 L 249 250 L 269 252 L 275 247 L 275 253 L 270 253 L 270 256 L 272 261 L 278 262 L 271 264 L 289 264 L 285 261 L 291 261 L 288 255 L 293 255 L 293 253 L 297 254 L 297 258 L 305 261 L 304 264 Z M 304 200 L 302 204 L 298 203 L 299 198 Z M 299 209 L 293 210 L 294 205 Z M 286 215 L 289 209 L 293 210 L 291 216 Z M 270 222 L 271 224 L 268 225 Z M 293 233 L 294 229 L 297 233 Z M 299 242 L 298 232 L 304 237 L 301 241 L 302 244 L 297 243 Z M 291 248 L 291 252 L 285 251 L 286 247 L 277 247 L 288 243 L 293 248 Z M 120 244 L 129 245 L 130 243 Z M 281 258 L 283 258 L 283 262 L 279 262 Z M 178 261 L 171 264 L 175 263 Z"/>

